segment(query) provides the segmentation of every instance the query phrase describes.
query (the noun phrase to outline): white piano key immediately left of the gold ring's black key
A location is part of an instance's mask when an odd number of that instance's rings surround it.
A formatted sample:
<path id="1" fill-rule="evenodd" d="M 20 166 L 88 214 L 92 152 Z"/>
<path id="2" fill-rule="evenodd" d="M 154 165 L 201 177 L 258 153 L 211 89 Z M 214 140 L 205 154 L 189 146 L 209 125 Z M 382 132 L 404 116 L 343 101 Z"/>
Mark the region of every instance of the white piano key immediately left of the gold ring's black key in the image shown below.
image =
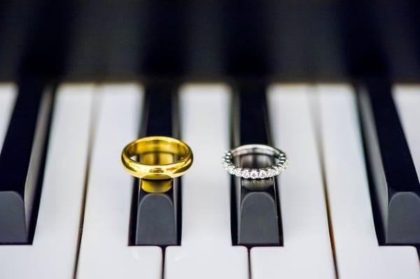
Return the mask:
<path id="1" fill-rule="evenodd" d="M 143 90 L 104 85 L 92 145 L 77 278 L 162 278 L 162 250 L 128 246 L 134 180 L 120 154 L 138 137 Z"/>

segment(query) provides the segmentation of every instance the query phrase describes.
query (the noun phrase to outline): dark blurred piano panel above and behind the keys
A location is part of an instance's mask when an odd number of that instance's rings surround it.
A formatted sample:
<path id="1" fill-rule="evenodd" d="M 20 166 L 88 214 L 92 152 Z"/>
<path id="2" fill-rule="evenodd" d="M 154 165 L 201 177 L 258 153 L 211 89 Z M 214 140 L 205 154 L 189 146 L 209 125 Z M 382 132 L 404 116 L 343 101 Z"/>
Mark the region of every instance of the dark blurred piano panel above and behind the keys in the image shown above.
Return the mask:
<path id="1" fill-rule="evenodd" d="M 0 2 L 0 80 L 420 77 L 419 1 Z"/>

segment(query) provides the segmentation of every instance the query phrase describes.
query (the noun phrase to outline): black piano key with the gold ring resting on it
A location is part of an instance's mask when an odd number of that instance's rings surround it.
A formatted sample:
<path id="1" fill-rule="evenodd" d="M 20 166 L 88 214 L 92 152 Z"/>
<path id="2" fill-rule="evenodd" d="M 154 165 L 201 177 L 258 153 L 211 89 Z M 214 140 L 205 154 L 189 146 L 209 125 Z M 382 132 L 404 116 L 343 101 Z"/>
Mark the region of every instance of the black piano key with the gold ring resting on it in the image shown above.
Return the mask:
<path id="1" fill-rule="evenodd" d="M 177 90 L 175 85 L 146 86 L 140 136 L 179 136 Z M 171 187 L 160 193 L 146 192 L 147 183 L 151 181 L 136 179 L 134 182 L 130 244 L 178 245 L 181 242 L 181 180 L 162 181 Z"/>

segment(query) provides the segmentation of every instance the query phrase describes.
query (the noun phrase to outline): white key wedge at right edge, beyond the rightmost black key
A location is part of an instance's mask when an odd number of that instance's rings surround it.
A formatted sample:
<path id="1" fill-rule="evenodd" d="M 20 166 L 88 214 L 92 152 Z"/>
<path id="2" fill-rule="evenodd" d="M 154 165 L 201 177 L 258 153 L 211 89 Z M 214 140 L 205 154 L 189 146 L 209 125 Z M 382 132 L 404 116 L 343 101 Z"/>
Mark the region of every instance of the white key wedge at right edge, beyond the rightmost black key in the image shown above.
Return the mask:
<path id="1" fill-rule="evenodd" d="M 396 85 L 393 93 L 417 176 L 420 177 L 420 85 Z"/>

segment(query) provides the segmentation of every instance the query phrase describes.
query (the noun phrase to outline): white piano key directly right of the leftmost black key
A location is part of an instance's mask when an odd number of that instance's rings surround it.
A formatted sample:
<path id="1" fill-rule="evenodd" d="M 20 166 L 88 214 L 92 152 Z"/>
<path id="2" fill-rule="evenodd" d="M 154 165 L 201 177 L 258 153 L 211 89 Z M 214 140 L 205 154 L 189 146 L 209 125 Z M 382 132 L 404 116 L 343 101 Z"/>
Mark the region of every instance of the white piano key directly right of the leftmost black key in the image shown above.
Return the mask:
<path id="1" fill-rule="evenodd" d="M 0 278 L 73 278 L 92 113 L 92 85 L 59 87 L 32 245 L 0 245 Z"/>

